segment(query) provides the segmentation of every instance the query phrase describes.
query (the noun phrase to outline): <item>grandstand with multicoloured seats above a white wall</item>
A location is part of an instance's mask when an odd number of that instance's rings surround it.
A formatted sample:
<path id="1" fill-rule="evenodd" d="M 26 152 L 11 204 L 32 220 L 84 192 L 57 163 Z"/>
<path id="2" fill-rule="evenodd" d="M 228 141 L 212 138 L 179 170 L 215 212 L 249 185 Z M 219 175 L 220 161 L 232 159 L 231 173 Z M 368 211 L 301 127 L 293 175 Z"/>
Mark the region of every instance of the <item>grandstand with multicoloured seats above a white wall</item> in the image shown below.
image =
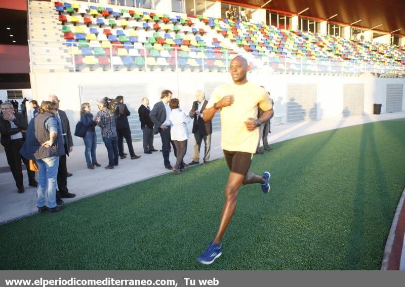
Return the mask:
<path id="1" fill-rule="evenodd" d="M 221 18 L 221 3 L 194 15 L 98 2 L 28 3 L 33 98 L 57 94 L 72 125 L 81 102 L 95 106 L 97 98 L 121 94 L 133 112 L 132 136 L 140 138 L 142 97 L 154 104 L 170 89 L 187 109 L 195 90 L 209 97 L 229 80 L 235 55 L 249 60 L 250 80 L 272 93 L 275 124 L 372 114 L 373 104 L 383 113 L 405 109 L 403 46 L 277 27 L 264 9 L 234 21 Z M 214 125 L 218 130 L 218 118 Z"/>

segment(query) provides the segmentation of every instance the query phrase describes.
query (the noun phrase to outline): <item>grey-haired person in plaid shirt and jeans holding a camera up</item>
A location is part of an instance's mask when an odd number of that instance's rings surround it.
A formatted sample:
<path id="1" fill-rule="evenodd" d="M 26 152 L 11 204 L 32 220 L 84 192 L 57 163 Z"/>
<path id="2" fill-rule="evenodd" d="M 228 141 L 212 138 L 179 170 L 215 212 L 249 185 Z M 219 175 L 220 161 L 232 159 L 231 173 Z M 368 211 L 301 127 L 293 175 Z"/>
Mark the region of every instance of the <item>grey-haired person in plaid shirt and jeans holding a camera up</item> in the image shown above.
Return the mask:
<path id="1" fill-rule="evenodd" d="M 94 117 L 94 120 L 97 121 L 101 128 L 101 136 L 107 148 L 108 166 L 106 166 L 105 169 L 111 170 L 114 166 L 118 166 L 118 139 L 115 116 L 108 109 L 108 104 L 104 99 L 98 100 L 97 106 L 100 111 Z"/>

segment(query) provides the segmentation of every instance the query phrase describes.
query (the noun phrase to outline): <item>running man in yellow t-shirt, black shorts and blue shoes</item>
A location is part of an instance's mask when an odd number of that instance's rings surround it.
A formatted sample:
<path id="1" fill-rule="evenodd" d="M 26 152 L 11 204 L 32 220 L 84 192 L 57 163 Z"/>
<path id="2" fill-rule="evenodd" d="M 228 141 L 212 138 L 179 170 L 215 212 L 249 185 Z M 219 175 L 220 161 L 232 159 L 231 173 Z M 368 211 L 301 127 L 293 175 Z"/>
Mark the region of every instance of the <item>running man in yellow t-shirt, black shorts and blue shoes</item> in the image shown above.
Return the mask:
<path id="1" fill-rule="evenodd" d="M 270 191 L 269 172 L 263 176 L 248 172 L 256 152 L 260 125 L 273 115 L 273 105 L 266 91 L 248 81 L 246 74 L 249 69 L 245 58 L 233 58 L 230 63 L 233 82 L 217 87 L 203 111 L 203 118 L 207 121 L 214 117 L 217 110 L 221 110 L 221 148 L 230 174 L 218 232 L 206 251 L 197 258 L 202 264 L 211 264 L 222 254 L 222 236 L 235 212 L 239 187 L 260 183 L 264 193 Z M 258 107 L 264 111 L 260 118 L 257 118 Z"/>

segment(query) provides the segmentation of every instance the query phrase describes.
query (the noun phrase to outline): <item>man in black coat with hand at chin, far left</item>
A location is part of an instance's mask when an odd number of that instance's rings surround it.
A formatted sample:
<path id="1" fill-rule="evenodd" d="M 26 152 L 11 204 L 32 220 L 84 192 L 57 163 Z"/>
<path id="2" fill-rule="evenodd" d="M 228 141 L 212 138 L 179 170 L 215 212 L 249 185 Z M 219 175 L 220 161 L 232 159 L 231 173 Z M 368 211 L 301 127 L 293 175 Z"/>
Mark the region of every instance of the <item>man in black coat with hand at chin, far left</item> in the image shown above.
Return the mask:
<path id="1" fill-rule="evenodd" d="M 18 193 L 23 193 L 24 182 L 21 169 L 21 160 L 27 167 L 28 185 L 37 186 L 35 173 L 29 170 L 29 161 L 20 155 L 20 149 L 24 143 L 23 131 L 28 128 L 28 122 L 24 115 L 15 113 L 11 103 L 2 103 L 2 116 L 0 117 L 0 142 L 4 146 L 7 162 L 13 174 Z"/>

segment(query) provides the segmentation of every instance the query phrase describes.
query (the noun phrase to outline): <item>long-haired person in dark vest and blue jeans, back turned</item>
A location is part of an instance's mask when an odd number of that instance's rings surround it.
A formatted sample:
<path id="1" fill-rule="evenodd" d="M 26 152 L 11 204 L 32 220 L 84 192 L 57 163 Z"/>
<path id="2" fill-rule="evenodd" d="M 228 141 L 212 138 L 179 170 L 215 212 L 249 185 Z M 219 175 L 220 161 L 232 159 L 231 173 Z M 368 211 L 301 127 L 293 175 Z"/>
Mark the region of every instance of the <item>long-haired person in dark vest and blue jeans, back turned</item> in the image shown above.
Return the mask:
<path id="1" fill-rule="evenodd" d="M 57 103 L 42 102 L 38 114 L 29 122 L 27 139 L 20 150 L 21 155 L 27 159 L 34 159 L 38 165 L 37 207 L 39 212 L 63 210 L 63 207 L 56 204 L 59 156 L 65 154 L 62 122 L 56 116 L 57 110 Z M 48 206 L 46 206 L 46 197 L 48 197 Z"/>

